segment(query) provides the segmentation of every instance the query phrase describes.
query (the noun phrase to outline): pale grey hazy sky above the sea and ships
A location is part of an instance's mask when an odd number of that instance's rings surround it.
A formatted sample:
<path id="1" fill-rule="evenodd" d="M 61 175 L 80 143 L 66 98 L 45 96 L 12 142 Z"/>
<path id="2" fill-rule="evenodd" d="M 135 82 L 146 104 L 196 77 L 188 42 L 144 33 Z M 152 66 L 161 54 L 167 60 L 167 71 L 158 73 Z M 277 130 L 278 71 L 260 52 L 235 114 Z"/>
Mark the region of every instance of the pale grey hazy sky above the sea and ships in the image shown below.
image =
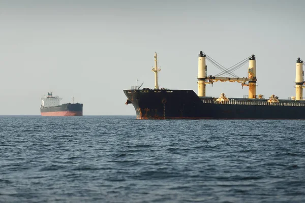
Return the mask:
<path id="1" fill-rule="evenodd" d="M 155 52 L 160 88 L 197 93 L 200 51 L 225 67 L 255 54 L 257 94 L 287 99 L 296 59 L 305 60 L 304 8 L 281 0 L 0 0 L 0 115 L 39 115 L 50 91 L 62 103 L 74 97 L 83 115 L 136 115 L 123 90 L 154 88 Z M 248 66 L 234 74 L 247 77 Z M 207 61 L 207 74 L 219 73 Z M 248 95 L 240 83 L 206 89 Z"/>

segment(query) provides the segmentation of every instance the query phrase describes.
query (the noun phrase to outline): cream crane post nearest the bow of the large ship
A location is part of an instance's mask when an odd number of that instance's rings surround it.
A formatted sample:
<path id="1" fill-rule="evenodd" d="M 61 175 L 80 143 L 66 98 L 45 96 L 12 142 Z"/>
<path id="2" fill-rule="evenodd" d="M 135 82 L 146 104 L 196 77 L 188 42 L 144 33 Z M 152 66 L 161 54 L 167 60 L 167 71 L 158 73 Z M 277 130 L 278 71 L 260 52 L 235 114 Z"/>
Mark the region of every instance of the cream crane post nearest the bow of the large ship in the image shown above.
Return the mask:
<path id="1" fill-rule="evenodd" d="M 206 79 L 206 64 L 205 54 L 202 51 L 198 57 L 198 96 L 205 96 L 205 79 Z"/>

